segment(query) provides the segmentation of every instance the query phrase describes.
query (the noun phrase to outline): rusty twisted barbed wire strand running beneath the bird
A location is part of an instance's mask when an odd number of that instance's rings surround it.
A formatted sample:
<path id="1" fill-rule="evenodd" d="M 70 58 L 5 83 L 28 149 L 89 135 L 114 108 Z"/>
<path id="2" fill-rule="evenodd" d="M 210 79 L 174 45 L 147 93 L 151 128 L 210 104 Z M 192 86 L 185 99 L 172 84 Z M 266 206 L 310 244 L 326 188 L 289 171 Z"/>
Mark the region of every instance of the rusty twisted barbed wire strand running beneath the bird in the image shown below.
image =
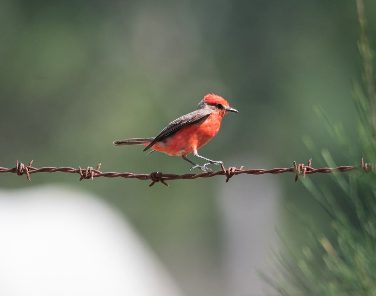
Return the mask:
<path id="1" fill-rule="evenodd" d="M 88 166 L 85 171 L 82 171 L 81 167 L 78 169 L 71 168 L 68 166 L 63 166 L 61 168 L 54 168 L 50 166 L 44 166 L 42 168 L 34 168 L 32 167 L 33 161 L 29 163 L 29 165 L 24 165 L 21 162 L 16 162 L 15 168 L 2 168 L 0 167 L 0 173 L 2 172 L 12 172 L 17 173 L 17 175 L 21 176 L 26 173 L 27 180 L 30 180 L 30 174 L 35 174 L 36 172 L 68 172 L 68 173 L 78 173 L 80 175 L 80 181 L 82 179 L 91 179 L 97 177 L 107 177 L 107 178 L 116 178 L 116 177 L 123 177 L 127 179 L 136 178 L 139 180 L 152 180 L 149 186 L 153 186 L 155 183 L 161 182 L 162 184 L 168 186 L 166 181 L 169 180 L 193 180 L 196 178 L 209 178 L 214 177 L 216 175 L 224 175 L 226 176 L 226 182 L 230 180 L 233 175 L 239 174 L 251 174 L 251 175 L 261 175 L 261 174 L 282 174 L 285 172 L 293 172 L 295 174 L 295 182 L 298 180 L 300 175 L 305 178 L 306 174 L 315 174 L 315 173 L 323 173 L 329 174 L 332 172 L 349 172 L 349 171 L 361 171 L 362 175 L 366 174 L 370 171 L 374 171 L 374 166 L 371 163 L 364 163 L 363 159 L 361 160 L 361 164 L 358 166 L 338 166 L 337 168 L 319 168 L 315 169 L 311 167 L 312 159 L 308 161 L 308 166 L 304 165 L 303 163 L 299 163 L 299 165 L 294 162 L 294 166 L 291 168 L 274 168 L 274 169 L 243 169 L 241 166 L 239 169 L 235 168 L 235 166 L 230 166 L 227 170 L 224 168 L 223 163 L 221 164 L 221 170 L 216 172 L 202 172 L 199 174 L 185 174 L 185 175 L 173 175 L 173 174 L 163 174 L 162 172 L 152 172 L 151 174 L 132 174 L 130 172 L 101 172 L 99 171 L 100 165 L 97 166 L 97 169 L 93 169 L 92 166 Z"/>

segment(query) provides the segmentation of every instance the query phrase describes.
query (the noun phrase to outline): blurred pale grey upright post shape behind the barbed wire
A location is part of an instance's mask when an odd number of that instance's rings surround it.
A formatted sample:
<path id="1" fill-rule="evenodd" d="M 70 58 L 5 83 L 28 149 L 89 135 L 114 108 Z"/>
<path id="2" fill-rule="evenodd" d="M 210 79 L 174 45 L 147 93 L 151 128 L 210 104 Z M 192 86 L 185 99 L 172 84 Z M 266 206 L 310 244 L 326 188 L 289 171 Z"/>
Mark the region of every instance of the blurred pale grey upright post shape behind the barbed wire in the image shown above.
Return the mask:
<path id="1" fill-rule="evenodd" d="M 229 163 L 244 168 L 268 168 L 265 160 L 249 155 Z M 281 186 L 274 175 L 237 175 L 218 186 L 224 231 L 224 272 L 229 295 L 275 295 L 257 274 L 270 276 L 265 261 L 276 247 L 274 230 L 282 198 Z"/>

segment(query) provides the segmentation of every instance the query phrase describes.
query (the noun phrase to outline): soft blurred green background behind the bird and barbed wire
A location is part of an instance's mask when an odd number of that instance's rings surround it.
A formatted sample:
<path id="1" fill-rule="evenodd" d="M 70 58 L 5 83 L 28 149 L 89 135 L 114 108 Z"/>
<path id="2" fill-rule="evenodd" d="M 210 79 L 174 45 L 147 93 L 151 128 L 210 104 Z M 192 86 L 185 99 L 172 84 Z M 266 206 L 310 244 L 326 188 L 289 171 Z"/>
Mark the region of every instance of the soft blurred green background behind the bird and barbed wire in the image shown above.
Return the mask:
<path id="1" fill-rule="evenodd" d="M 376 3 L 365 7 L 375 37 Z M 353 0 L 2 0 L 0 23 L 0 166 L 34 160 L 35 167 L 102 163 L 103 172 L 189 173 L 178 157 L 146 157 L 141 146 L 112 142 L 155 136 L 207 93 L 223 96 L 239 113 L 224 117 L 200 155 L 227 167 L 246 163 L 230 162 L 238 155 L 267 160 L 263 168 L 290 167 L 312 157 L 301 140 L 308 135 L 339 165 L 358 164 L 344 163 L 313 110 L 321 105 L 355 141 Z M 249 175 L 238 186 L 248 178 L 264 176 Z M 293 174 L 273 178 L 285 196 L 282 215 L 285 201 L 312 203 Z M 78 175 L 58 172 L 31 179 L 2 174 L 0 186 L 62 183 L 99 194 L 133 223 L 183 291 L 200 294 L 192 287 L 197 279 L 220 287 L 217 197 L 224 177 L 170 181 L 169 188 L 123 178 L 78 182 Z"/>

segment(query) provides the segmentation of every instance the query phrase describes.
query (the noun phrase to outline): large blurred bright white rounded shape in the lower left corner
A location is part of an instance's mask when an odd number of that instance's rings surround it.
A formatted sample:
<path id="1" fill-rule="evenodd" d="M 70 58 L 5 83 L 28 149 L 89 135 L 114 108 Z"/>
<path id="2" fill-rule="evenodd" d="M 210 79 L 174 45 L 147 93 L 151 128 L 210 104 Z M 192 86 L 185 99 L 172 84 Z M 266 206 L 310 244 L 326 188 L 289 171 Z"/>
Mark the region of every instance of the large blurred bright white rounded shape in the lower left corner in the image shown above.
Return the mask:
<path id="1" fill-rule="evenodd" d="M 132 227 L 95 196 L 0 191 L 0 295 L 180 296 Z"/>

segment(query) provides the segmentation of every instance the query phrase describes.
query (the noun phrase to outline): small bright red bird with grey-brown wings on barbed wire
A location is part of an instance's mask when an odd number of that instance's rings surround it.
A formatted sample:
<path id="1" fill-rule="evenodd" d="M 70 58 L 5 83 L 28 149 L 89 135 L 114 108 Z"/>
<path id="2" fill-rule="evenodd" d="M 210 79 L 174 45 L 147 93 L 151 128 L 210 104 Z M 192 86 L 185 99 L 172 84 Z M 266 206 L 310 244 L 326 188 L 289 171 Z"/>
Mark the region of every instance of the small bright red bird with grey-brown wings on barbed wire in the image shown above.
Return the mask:
<path id="1" fill-rule="evenodd" d="M 207 165 L 213 163 L 219 165 L 220 160 L 214 161 L 197 154 L 197 149 L 208 143 L 218 133 L 222 117 L 227 112 L 238 113 L 237 110 L 230 108 L 229 103 L 220 96 L 213 94 L 206 95 L 197 106 L 196 111 L 183 115 L 171 122 L 156 137 L 151 138 L 132 138 L 115 141 L 119 145 L 142 144 L 146 146 L 143 151 L 152 148 L 168 155 L 182 156 L 182 159 L 190 162 L 194 168 L 200 168 L 206 171 Z M 192 153 L 205 159 L 208 163 L 205 165 L 196 165 L 186 156 Z"/>

